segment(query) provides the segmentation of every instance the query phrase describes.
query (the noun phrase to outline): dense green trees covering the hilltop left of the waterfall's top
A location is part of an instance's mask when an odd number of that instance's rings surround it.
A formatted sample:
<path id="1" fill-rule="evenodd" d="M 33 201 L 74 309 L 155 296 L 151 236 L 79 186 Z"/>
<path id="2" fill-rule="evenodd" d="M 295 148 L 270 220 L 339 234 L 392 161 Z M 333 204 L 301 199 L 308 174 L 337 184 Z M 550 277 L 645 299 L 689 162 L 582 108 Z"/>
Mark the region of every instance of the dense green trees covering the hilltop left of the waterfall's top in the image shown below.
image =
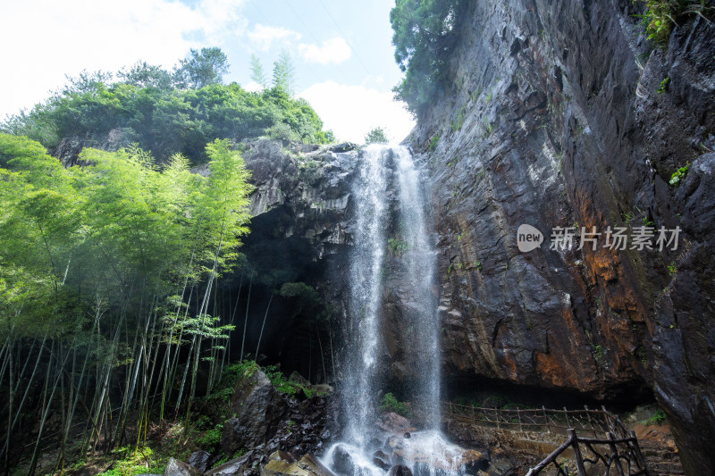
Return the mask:
<path id="1" fill-rule="evenodd" d="M 196 74 L 204 75 L 202 68 L 197 65 Z M 105 140 L 114 130 L 121 141 L 137 142 L 160 163 L 175 153 L 205 163 L 206 144 L 215 138 L 239 142 L 267 135 L 318 144 L 334 140 L 313 108 L 283 88 L 249 93 L 236 83 L 218 84 L 217 78 L 187 79 L 188 86 L 209 84 L 177 88 L 181 82 L 171 73 L 147 63 L 122 70 L 117 77 L 120 82 L 112 84 L 111 76 L 101 71 L 82 73 L 45 103 L 8 118 L 0 129 L 48 148 L 71 136 Z"/>

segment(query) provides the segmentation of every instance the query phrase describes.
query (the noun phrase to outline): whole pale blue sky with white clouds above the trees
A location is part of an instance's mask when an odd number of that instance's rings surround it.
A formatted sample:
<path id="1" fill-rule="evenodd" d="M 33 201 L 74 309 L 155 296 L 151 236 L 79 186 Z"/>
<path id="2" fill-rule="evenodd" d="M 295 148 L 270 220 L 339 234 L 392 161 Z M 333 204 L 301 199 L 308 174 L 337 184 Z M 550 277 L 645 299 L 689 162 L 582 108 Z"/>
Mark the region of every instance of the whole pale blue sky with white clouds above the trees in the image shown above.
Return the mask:
<path id="1" fill-rule="evenodd" d="M 391 0 L 24 0 L 0 15 L 0 119 L 30 109 L 65 75 L 118 71 L 139 60 L 166 69 L 191 48 L 219 46 L 225 82 L 257 88 L 256 54 L 270 77 L 283 50 L 304 97 L 340 140 L 360 143 L 373 127 L 401 140 L 414 127 L 392 100 Z"/>

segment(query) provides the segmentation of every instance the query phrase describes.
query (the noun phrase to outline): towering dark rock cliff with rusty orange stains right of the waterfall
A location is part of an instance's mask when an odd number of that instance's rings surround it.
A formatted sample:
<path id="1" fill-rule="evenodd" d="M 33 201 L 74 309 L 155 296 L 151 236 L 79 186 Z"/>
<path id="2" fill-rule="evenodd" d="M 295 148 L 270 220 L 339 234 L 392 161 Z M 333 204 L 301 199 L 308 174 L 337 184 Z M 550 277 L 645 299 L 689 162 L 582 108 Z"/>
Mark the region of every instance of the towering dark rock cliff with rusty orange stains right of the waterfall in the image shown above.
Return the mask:
<path id="1" fill-rule="evenodd" d="M 454 83 L 408 138 L 432 179 L 445 378 L 654 395 L 689 472 L 712 472 L 715 26 L 653 49 L 637 9 L 475 2 L 458 26 Z M 524 223 L 546 238 L 530 253 Z M 554 227 L 643 226 L 679 226 L 677 250 L 549 249 Z"/>

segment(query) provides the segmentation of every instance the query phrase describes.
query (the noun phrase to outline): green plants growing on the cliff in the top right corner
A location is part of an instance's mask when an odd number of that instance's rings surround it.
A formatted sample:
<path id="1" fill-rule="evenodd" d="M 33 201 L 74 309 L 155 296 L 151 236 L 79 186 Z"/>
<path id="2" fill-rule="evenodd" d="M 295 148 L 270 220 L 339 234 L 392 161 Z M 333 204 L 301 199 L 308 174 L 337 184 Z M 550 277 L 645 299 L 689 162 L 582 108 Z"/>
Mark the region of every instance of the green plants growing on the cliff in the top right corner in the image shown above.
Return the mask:
<path id="1" fill-rule="evenodd" d="M 713 7 L 709 0 L 639 0 L 646 10 L 641 17 L 648 39 L 660 46 L 668 44 L 670 32 L 677 25 L 679 17 L 690 14 L 711 16 Z"/>

